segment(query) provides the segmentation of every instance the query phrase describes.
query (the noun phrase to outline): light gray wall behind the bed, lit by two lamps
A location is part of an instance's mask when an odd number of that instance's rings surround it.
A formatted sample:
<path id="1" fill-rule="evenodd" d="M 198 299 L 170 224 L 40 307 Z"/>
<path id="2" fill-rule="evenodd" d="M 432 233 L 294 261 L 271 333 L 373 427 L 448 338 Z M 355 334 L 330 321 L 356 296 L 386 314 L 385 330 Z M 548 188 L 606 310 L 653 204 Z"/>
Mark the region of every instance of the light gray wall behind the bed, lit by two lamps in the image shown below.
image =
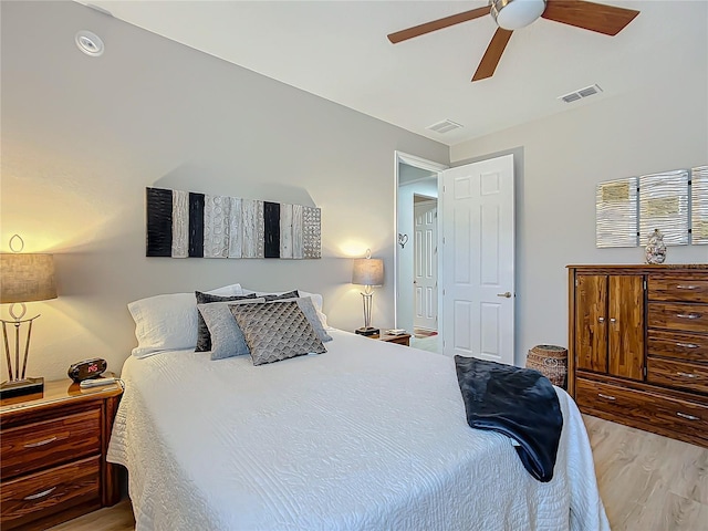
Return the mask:
<path id="1" fill-rule="evenodd" d="M 29 375 L 93 356 L 119 372 L 127 302 L 232 282 L 321 292 L 330 322 L 353 330 L 351 257 L 366 248 L 386 266 L 374 315 L 393 325 L 394 152 L 447 163 L 446 146 L 79 3 L 1 10 L 0 248 L 19 233 L 59 277 L 60 298 L 30 308 Z M 76 49 L 82 29 L 103 56 Z M 147 186 L 317 206 L 323 258 L 145 258 Z"/>

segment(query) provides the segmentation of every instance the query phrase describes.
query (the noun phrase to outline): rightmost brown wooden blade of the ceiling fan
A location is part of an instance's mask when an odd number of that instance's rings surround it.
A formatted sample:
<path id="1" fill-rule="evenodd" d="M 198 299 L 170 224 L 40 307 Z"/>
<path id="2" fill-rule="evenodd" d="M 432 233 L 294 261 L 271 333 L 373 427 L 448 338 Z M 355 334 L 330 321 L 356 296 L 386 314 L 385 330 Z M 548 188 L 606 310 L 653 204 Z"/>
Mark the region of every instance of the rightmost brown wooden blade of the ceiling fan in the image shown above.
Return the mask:
<path id="1" fill-rule="evenodd" d="M 639 11 L 584 0 L 546 0 L 544 19 L 605 35 L 620 33 Z"/>

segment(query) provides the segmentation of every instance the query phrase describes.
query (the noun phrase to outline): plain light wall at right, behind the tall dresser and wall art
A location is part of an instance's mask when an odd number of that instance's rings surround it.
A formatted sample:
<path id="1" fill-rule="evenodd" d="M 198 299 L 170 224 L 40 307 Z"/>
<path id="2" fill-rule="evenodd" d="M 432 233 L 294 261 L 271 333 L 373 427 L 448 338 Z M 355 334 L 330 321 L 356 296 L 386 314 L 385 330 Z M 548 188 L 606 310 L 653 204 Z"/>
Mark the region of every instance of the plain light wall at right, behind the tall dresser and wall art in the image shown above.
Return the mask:
<path id="1" fill-rule="evenodd" d="M 708 3 L 704 6 L 708 20 Z M 708 42 L 657 65 L 656 83 L 450 150 L 454 166 L 522 148 L 517 187 L 517 363 L 540 343 L 568 346 L 568 271 L 643 263 L 643 249 L 595 248 L 597 183 L 708 164 Z M 610 87 L 607 87 L 610 88 Z M 519 175 L 517 175 L 517 178 Z M 667 263 L 708 262 L 708 246 L 669 247 Z"/>

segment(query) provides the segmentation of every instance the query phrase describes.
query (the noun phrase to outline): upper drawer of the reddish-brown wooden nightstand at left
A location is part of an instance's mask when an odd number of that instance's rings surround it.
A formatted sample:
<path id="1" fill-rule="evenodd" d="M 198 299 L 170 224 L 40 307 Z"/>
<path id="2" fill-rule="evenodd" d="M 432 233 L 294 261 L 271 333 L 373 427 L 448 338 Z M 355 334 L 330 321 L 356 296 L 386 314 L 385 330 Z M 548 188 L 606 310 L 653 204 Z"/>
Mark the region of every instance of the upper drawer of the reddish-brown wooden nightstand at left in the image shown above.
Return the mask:
<path id="1" fill-rule="evenodd" d="M 101 454 L 101 406 L 0 431 L 4 481 L 20 473 Z M 4 489 L 4 483 L 3 483 Z"/>

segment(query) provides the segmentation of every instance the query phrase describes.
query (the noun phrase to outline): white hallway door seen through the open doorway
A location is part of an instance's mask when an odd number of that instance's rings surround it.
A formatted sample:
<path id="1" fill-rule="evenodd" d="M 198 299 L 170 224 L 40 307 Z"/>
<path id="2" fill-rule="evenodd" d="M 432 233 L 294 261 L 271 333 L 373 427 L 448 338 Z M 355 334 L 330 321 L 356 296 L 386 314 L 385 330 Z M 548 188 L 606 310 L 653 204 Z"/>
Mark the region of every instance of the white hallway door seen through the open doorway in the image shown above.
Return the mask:
<path id="1" fill-rule="evenodd" d="M 438 201 L 417 202 L 414 216 L 413 325 L 438 330 Z"/>

